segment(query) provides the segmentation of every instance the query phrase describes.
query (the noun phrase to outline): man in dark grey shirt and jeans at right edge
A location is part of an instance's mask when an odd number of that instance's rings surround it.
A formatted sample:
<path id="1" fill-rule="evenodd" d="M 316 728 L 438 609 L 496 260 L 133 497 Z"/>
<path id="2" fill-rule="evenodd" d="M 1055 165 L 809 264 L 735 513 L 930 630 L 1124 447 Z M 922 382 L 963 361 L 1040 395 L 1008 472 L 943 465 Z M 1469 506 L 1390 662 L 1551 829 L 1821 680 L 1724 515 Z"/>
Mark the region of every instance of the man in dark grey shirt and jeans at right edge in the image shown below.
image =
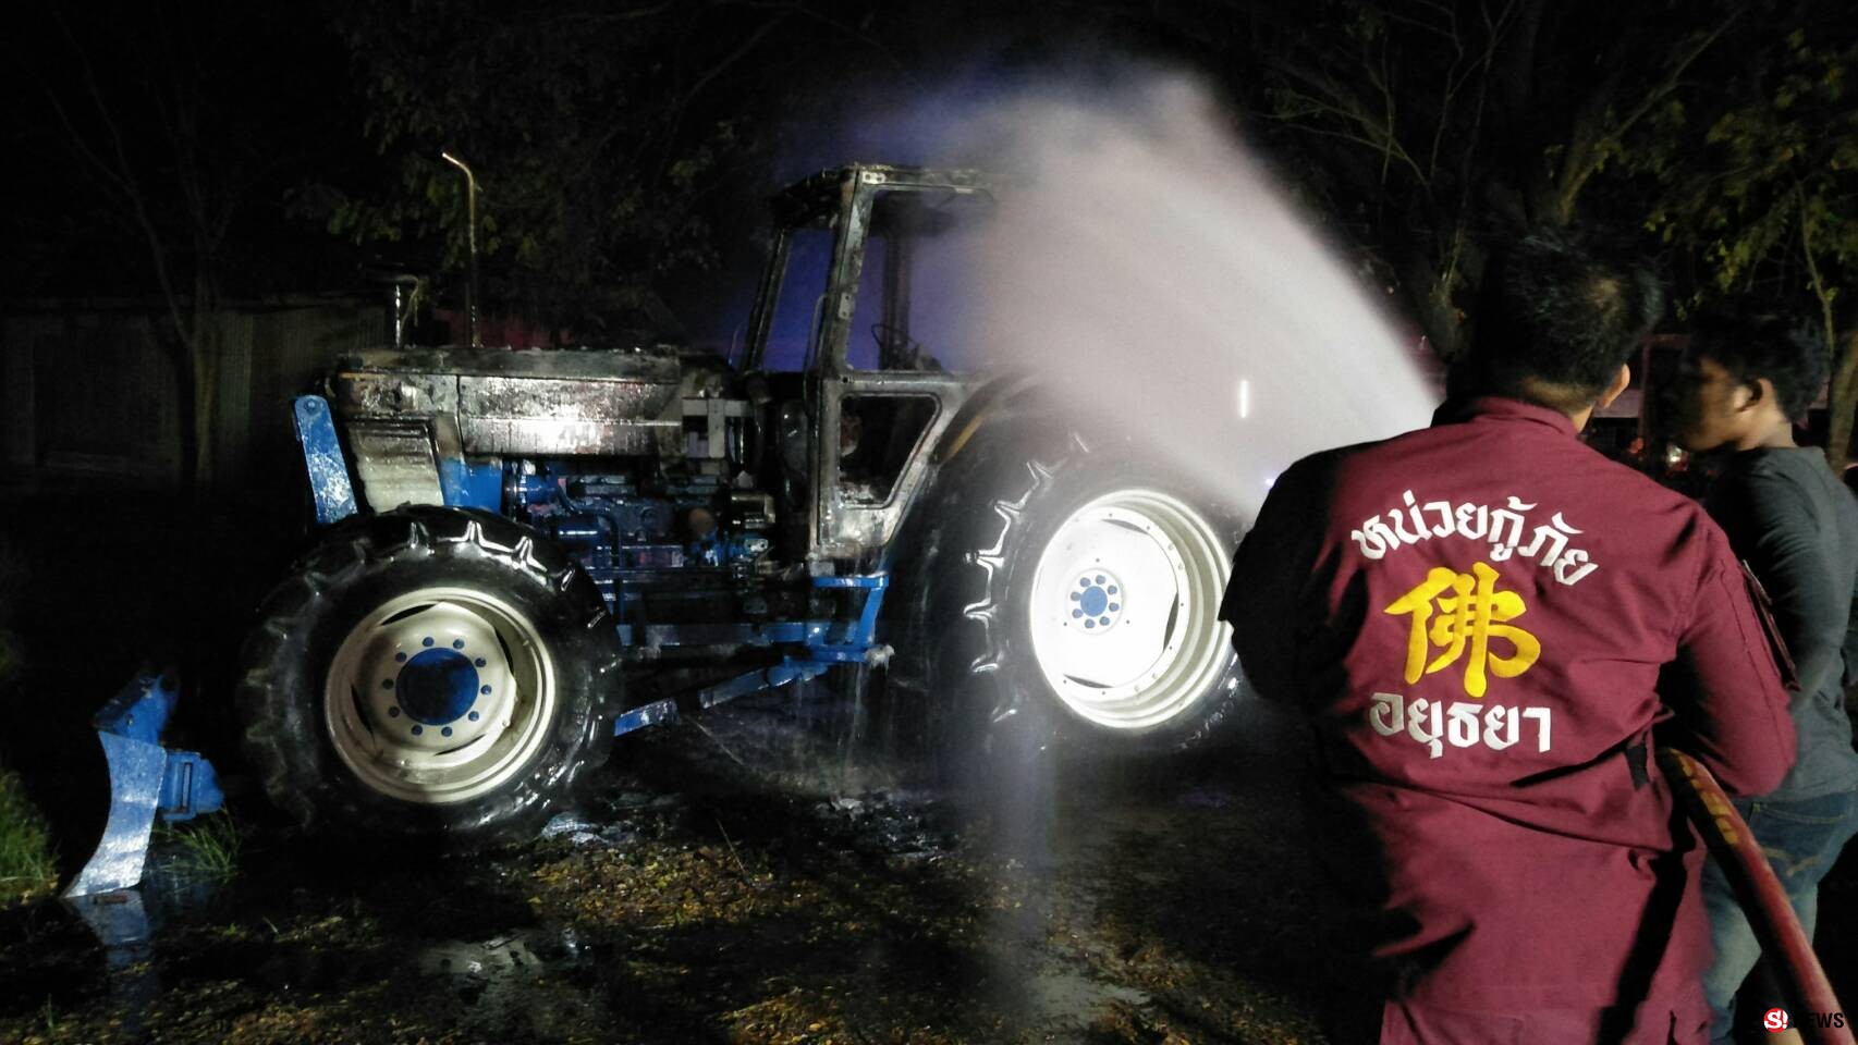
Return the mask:
<path id="1" fill-rule="evenodd" d="M 1823 451 L 1793 442 L 1793 419 L 1826 369 L 1825 349 L 1780 319 L 1724 312 L 1698 327 L 1680 381 L 1685 447 L 1728 451 L 1704 507 L 1767 588 L 1799 676 L 1789 702 L 1799 761 L 1780 787 L 1737 807 L 1808 937 L 1819 880 L 1858 833 L 1858 752 L 1845 707 L 1845 687 L 1858 681 L 1858 501 Z M 1730 1041 L 1735 991 L 1761 947 L 1715 865 L 1704 874 L 1704 904 L 1717 954 L 1704 987 L 1717 1041 Z"/>

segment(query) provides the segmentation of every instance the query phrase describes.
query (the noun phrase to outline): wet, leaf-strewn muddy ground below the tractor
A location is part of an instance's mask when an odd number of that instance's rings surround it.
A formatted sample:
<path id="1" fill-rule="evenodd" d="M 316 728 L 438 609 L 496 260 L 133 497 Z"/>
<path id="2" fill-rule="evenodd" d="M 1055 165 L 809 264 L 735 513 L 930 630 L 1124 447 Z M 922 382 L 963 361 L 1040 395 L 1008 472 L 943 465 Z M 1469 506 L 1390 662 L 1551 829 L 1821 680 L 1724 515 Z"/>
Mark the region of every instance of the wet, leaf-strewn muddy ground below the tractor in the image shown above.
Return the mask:
<path id="1" fill-rule="evenodd" d="M 626 741 L 580 811 L 491 856 L 253 828 L 230 880 L 141 889 L 145 943 L 9 911 L 0 1041 L 1367 1039 L 1280 716 L 1211 759 L 979 789 L 860 716 L 775 694 Z M 1849 878 L 1828 911 L 1858 910 Z"/>

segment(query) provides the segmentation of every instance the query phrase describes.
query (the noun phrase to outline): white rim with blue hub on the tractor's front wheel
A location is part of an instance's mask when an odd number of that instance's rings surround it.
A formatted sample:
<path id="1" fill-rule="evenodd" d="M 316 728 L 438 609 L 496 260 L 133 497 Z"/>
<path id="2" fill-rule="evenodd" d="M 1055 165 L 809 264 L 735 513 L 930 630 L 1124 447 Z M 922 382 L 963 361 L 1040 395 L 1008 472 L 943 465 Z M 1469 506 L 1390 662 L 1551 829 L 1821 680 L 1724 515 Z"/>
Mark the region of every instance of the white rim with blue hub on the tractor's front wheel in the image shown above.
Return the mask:
<path id="1" fill-rule="evenodd" d="M 366 787 L 425 806 L 466 802 L 524 770 L 548 739 L 556 672 L 535 626 L 470 588 L 375 607 L 336 648 L 323 711 Z"/>

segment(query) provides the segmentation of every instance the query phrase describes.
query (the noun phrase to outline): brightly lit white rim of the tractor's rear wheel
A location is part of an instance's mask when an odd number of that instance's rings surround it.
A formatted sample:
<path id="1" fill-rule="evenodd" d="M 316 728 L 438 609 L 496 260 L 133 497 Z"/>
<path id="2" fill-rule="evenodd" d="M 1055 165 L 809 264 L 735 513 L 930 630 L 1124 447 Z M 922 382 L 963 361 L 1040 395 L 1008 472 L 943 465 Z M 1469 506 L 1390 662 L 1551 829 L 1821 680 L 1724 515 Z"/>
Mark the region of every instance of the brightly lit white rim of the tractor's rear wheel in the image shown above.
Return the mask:
<path id="1" fill-rule="evenodd" d="M 1117 490 L 1066 518 L 1033 574 L 1039 670 L 1076 715 L 1111 729 L 1169 722 L 1213 694 L 1232 627 L 1232 572 L 1213 527 L 1156 490 Z"/>

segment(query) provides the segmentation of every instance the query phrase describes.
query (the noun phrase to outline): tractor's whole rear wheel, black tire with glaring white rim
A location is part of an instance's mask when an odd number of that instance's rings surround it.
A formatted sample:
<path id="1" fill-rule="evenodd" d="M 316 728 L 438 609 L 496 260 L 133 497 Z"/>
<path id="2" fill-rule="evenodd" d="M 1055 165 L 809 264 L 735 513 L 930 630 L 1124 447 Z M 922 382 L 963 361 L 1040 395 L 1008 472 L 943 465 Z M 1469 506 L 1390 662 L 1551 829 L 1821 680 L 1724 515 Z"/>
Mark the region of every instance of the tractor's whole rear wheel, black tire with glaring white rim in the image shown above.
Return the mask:
<path id="1" fill-rule="evenodd" d="M 1128 444 L 1063 427 L 1003 425 L 966 455 L 935 507 L 925 629 L 961 731 L 1087 755 L 1219 737 L 1245 698 L 1217 620 L 1239 520 Z"/>

